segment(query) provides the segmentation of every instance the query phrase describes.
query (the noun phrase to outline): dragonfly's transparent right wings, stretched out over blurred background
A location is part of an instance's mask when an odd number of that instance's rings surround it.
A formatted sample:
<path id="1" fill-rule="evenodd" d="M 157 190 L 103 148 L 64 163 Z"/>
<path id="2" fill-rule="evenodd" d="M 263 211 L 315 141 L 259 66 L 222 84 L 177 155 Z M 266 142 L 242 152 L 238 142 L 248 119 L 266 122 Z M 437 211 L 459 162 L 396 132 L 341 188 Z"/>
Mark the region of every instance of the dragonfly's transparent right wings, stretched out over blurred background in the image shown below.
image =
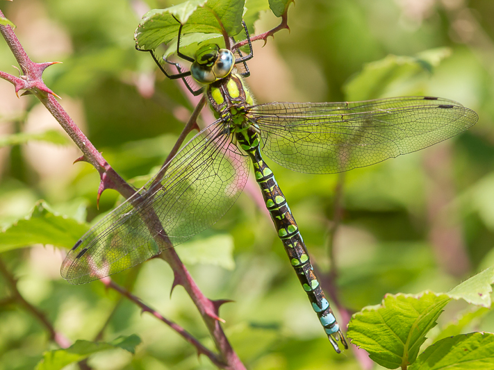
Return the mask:
<path id="1" fill-rule="evenodd" d="M 268 103 L 249 108 L 262 150 L 293 171 L 331 174 L 411 153 L 457 135 L 477 114 L 455 101 L 410 96 L 352 103 Z"/>

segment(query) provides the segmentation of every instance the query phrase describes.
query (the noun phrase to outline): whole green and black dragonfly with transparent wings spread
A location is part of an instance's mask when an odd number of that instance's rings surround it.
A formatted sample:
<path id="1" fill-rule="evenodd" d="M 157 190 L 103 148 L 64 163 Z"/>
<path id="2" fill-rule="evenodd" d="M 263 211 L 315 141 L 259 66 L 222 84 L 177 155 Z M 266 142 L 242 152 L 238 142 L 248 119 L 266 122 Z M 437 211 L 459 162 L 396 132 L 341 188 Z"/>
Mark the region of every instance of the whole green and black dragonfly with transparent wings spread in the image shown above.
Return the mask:
<path id="1" fill-rule="evenodd" d="M 185 242 L 212 226 L 235 203 L 254 169 L 274 228 L 335 351 L 348 348 L 324 296 L 295 217 L 263 155 L 293 171 L 334 174 L 424 149 L 466 131 L 477 114 L 448 99 L 405 96 L 342 103 L 255 104 L 245 84 L 253 57 L 209 43 L 184 71 L 193 94 L 205 94 L 215 117 L 140 190 L 94 225 L 69 251 L 61 267 L 69 283 L 88 283 L 123 271 Z M 164 64 L 164 63 L 163 63 Z M 243 70 L 236 65 L 243 65 Z M 188 76 L 201 85 L 197 90 Z M 170 246 L 157 242 L 165 235 Z"/>

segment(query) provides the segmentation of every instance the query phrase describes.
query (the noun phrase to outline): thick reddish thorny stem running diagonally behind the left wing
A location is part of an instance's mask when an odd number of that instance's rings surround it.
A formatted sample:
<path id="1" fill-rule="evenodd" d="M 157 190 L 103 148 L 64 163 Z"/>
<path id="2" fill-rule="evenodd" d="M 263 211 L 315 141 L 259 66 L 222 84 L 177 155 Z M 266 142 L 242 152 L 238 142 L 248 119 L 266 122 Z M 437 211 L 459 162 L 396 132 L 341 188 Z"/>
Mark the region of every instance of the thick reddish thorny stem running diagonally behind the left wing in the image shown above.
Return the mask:
<path id="1" fill-rule="evenodd" d="M 3 13 L 1 11 L 0 17 L 3 17 Z M 42 80 L 42 72 L 44 69 L 55 64 L 56 62 L 35 63 L 31 61 L 10 26 L 0 26 L 0 33 L 6 40 L 22 70 L 22 76 L 20 77 L 15 77 L 10 74 L 6 74 L 5 72 L 1 72 L 0 78 L 13 83 L 13 85 L 15 85 L 16 94 L 19 90 L 26 90 L 26 93 L 34 94 L 38 99 L 40 99 L 47 110 L 51 112 L 53 117 L 57 119 L 60 126 L 64 128 L 69 137 L 72 138 L 74 143 L 83 152 L 83 155 L 79 158 L 79 160 L 89 162 L 99 172 L 101 183 L 98 190 L 98 196 L 104 190 L 111 188 L 120 192 L 120 194 L 122 194 L 125 198 L 130 198 L 135 193 L 133 187 L 126 183 L 126 181 L 117 174 L 108 162 L 104 160 L 101 153 L 97 151 L 79 127 L 76 126 L 72 118 L 69 117 L 67 112 L 65 112 L 63 107 L 60 106 L 55 96 L 53 96 L 54 93 L 49 90 L 46 85 L 44 85 Z M 153 216 L 155 215 L 149 215 L 149 221 L 156 221 Z M 204 294 L 202 294 L 199 287 L 197 287 L 195 281 L 192 279 L 192 276 L 190 276 L 188 270 L 179 259 L 179 256 L 176 254 L 174 249 L 170 248 L 170 241 L 166 235 L 163 233 L 157 233 L 156 242 L 162 246 L 168 246 L 168 248 L 161 253 L 160 257 L 166 260 L 174 271 L 174 286 L 182 285 L 199 310 L 201 317 L 213 337 L 213 341 L 215 342 L 217 349 L 220 351 L 222 363 L 221 367 L 223 369 L 245 369 L 242 362 L 240 362 L 240 359 L 233 351 L 233 348 L 231 348 L 228 339 L 224 335 L 220 323 L 218 322 L 219 317 L 217 312 L 220 307 L 220 303 L 211 301 L 206 298 Z M 111 287 L 113 288 L 113 286 Z M 172 326 L 172 328 L 176 329 L 174 326 Z M 190 343 L 196 345 L 196 342 L 194 341 L 190 341 Z M 202 347 L 196 346 L 196 348 L 199 353 L 204 353 Z"/>

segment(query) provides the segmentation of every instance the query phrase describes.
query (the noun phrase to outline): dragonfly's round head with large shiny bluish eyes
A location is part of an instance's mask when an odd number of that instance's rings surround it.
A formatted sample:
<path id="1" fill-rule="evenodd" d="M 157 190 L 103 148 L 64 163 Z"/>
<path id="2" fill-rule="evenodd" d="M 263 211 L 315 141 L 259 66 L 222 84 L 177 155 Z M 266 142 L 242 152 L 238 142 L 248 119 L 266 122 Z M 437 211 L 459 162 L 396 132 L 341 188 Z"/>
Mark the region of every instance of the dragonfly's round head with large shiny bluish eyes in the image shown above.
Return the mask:
<path id="1" fill-rule="evenodd" d="M 195 62 L 190 67 L 192 78 L 198 83 L 209 84 L 227 77 L 235 65 L 233 53 L 220 49 L 216 44 L 204 45 L 195 53 Z"/>

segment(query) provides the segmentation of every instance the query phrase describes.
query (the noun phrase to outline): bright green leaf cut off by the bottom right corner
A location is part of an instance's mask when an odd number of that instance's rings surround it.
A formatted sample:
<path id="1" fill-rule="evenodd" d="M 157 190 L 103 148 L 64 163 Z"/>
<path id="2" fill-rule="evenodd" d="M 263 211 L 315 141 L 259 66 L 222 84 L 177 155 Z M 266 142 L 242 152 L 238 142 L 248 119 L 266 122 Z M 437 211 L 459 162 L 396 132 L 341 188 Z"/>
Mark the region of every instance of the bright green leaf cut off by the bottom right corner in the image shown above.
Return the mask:
<path id="1" fill-rule="evenodd" d="M 442 339 L 427 348 L 409 369 L 494 369 L 494 335 L 470 333 Z"/>

